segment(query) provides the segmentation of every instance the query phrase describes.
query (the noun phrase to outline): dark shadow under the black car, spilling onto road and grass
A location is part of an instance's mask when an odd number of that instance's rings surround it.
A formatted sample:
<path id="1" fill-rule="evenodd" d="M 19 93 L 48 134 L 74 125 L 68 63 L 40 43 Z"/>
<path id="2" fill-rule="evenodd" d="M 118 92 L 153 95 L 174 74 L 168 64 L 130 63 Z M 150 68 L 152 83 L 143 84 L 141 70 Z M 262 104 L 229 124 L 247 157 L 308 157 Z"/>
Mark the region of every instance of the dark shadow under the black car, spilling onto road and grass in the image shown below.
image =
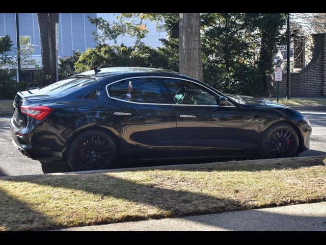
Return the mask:
<path id="1" fill-rule="evenodd" d="M 309 150 L 307 155 L 311 156 L 326 156 L 326 152 Z M 300 157 L 305 155 L 300 155 Z M 293 161 L 294 159 L 294 161 Z M 246 162 L 246 160 L 253 160 L 252 162 Z M 182 166 L 189 165 L 191 166 Z M 197 165 L 198 164 L 198 165 Z M 202 165 L 204 164 L 204 165 Z M 209 166 L 207 166 L 209 164 Z M 49 163 L 41 162 L 42 170 L 44 174 L 52 173 L 67 173 L 74 172 L 76 174 L 83 174 L 83 171 L 74 171 L 68 164 L 61 162 Z M 189 170 L 205 170 L 205 171 L 261 171 L 261 170 L 272 170 L 272 169 L 286 169 L 286 168 L 301 168 L 307 166 L 320 166 L 325 165 L 323 159 L 314 159 L 313 161 L 301 160 L 295 161 L 295 158 L 284 158 L 284 159 L 259 159 L 259 158 L 208 158 L 208 159 L 178 159 L 178 160 L 155 160 L 155 161 L 139 161 L 129 160 L 118 162 L 114 167 L 102 169 L 102 170 L 113 170 L 121 169 L 122 171 L 126 168 L 126 171 L 131 169 L 137 169 L 140 167 L 162 167 L 161 169 L 178 168 L 181 171 Z"/>

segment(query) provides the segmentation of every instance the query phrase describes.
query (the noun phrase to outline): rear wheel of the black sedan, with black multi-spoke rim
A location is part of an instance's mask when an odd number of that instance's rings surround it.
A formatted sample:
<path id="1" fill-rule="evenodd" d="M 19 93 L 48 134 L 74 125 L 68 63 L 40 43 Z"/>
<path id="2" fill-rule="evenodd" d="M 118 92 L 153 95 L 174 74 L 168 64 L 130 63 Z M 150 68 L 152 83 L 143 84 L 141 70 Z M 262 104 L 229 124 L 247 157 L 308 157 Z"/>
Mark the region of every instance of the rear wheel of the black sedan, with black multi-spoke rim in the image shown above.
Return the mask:
<path id="1" fill-rule="evenodd" d="M 71 142 L 67 152 L 67 162 L 75 171 L 111 168 L 116 159 L 115 140 L 101 130 L 81 133 Z"/>

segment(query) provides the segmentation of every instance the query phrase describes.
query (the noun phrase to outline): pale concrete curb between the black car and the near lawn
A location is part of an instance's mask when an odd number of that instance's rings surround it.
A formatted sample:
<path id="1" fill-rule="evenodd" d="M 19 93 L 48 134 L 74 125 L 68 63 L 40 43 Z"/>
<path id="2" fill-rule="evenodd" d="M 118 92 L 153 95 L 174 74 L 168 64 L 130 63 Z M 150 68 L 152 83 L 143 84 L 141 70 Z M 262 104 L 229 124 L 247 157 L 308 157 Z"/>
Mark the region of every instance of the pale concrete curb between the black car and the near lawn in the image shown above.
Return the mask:
<path id="1" fill-rule="evenodd" d="M 282 160 L 305 160 L 310 158 L 321 158 L 326 156 L 307 156 L 307 157 L 290 157 L 290 158 L 271 158 L 266 159 L 269 161 L 279 162 Z M 16 176 L 0 176 L 0 179 L 12 179 L 12 178 L 25 178 L 25 177 L 44 177 L 44 176 L 62 176 L 62 175 L 85 175 L 85 174 L 96 174 L 96 173 L 111 173 L 116 171 L 142 171 L 142 170 L 151 170 L 151 169 L 178 169 L 183 167 L 192 167 L 192 166 L 205 166 L 212 164 L 222 164 L 222 163 L 231 163 L 237 162 L 238 164 L 261 162 L 262 159 L 254 160 L 239 160 L 239 161 L 224 161 L 224 162 L 210 162 L 210 163 L 194 163 L 194 164 L 176 164 L 176 165 L 161 165 L 161 166 L 150 166 L 150 167 L 127 167 L 127 168 L 113 168 L 113 169 L 101 169 L 101 170 L 87 170 L 87 171 L 75 171 L 75 172 L 64 172 L 64 173 L 51 173 L 51 174 L 36 174 L 36 175 L 16 175 Z"/>

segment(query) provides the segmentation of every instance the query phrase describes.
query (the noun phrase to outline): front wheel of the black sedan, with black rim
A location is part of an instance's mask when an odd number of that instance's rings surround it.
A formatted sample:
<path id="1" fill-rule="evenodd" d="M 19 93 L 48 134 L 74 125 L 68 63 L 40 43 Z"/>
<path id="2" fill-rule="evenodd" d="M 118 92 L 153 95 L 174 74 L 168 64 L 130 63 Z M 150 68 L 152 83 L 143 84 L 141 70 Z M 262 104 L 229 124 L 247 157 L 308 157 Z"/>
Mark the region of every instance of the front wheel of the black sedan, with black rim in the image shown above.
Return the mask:
<path id="1" fill-rule="evenodd" d="M 267 129 L 262 141 L 262 158 L 295 157 L 298 153 L 299 140 L 295 129 L 280 122 Z"/>

